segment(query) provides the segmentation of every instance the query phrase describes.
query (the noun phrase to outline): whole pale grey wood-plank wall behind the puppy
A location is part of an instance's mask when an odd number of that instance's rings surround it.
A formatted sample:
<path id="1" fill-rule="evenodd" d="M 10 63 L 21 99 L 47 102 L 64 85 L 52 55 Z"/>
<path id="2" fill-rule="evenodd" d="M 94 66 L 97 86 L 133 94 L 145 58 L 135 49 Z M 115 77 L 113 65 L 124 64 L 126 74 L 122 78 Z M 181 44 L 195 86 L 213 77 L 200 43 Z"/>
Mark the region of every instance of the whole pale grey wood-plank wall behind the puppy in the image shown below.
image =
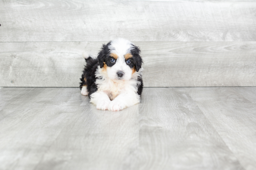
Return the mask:
<path id="1" fill-rule="evenodd" d="M 78 87 L 82 52 L 141 47 L 145 87 L 256 86 L 256 1 L 1 0 L 0 86 Z"/>

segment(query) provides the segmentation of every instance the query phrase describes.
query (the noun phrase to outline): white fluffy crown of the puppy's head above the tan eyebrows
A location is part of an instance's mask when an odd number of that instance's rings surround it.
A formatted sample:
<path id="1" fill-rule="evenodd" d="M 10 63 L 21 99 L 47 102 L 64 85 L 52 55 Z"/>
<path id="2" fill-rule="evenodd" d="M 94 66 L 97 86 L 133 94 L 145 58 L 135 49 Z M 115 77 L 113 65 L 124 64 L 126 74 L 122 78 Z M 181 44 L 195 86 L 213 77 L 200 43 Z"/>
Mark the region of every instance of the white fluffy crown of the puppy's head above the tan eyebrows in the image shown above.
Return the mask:
<path id="1" fill-rule="evenodd" d="M 119 57 L 121 57 L 127 53 L 130 53 L 131 49 L 133 49 L 134 46 L 131 41 L 123 39 L 123 38 L 119 38 L 119 39 L 111 41 L 108 48 L 110 49 L 110 51 L 109 51 L 110 53 L 115 53 Z"/>

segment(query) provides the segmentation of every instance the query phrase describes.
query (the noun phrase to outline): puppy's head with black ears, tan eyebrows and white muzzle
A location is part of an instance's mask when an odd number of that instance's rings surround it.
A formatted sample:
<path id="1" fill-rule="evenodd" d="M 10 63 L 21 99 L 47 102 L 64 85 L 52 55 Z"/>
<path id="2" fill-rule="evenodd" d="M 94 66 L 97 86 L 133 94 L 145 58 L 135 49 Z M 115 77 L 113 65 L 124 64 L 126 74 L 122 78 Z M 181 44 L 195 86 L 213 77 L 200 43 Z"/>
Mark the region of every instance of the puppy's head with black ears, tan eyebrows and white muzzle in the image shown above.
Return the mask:
<path id="1" fill-rule="evenodd" d="M 142 66 L 140 50 L 132 42 L 125 39 L 103 44 L 97 59 L 102 71 L 112 80 L 129 80 L 132 74 Z"/>

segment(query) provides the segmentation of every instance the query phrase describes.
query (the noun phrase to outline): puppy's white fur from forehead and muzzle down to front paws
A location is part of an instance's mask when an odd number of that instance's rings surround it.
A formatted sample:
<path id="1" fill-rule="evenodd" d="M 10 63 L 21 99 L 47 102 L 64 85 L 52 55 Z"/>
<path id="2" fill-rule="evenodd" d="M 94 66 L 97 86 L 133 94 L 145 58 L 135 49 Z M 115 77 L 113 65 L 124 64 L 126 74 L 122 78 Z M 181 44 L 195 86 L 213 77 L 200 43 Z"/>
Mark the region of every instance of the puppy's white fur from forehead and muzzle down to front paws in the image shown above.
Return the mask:
<path id="1" fill-rule="evenodd" d="M 142 76 L 143 68 L 132 74 L 132 69 L 125 63 L 124 55 L 134 48 L 130 41 L 117 39 L 112 41 L 109 48 L 110 53 L 118 55 L 118 59 L 112 67 L 107 67 L 107 70 L 98 66 L 95 74 L 99 78 L 95 82 L 98 90 L 91 95 L 90 102 L 100 110 L 119 111 L 139 103 L 137 86 L 140 82 L 137 77 Z M 118 71 L 124 72 L 123 77 L 118 77 Z"/>

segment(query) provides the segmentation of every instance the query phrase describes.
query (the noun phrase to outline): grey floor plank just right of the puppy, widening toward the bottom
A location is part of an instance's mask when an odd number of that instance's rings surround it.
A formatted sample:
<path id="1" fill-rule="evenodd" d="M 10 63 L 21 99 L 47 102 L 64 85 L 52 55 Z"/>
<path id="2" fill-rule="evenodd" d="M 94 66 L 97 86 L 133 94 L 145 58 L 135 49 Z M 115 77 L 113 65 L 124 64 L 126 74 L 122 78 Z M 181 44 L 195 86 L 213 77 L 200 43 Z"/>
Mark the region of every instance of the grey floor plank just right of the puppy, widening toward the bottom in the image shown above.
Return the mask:
<path id="1" fill-rule="evenodd" d="M 185 89 L 145 88 L 140 169 L 243 169 Z"/>

